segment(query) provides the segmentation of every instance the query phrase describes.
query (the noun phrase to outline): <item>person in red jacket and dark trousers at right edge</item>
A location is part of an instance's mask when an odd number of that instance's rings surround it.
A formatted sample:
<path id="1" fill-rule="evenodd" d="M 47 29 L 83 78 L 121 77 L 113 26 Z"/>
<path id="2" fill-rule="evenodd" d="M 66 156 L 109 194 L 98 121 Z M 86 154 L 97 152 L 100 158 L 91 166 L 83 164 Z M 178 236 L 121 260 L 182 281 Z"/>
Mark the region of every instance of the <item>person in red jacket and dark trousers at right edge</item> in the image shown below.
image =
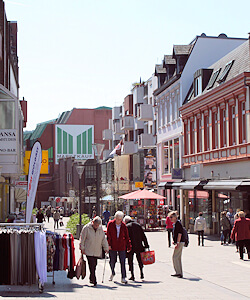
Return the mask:
<path id="1" fill-rule="evenodd" d="M 243 259 L 243 249 L 247 248 L 250 259 L 250 219 L 245 218 L 244 211 L 238 213 L 239 219 L 235 220 L 231 238 L 237 241 L 240 250 L 240 259 Z"/>

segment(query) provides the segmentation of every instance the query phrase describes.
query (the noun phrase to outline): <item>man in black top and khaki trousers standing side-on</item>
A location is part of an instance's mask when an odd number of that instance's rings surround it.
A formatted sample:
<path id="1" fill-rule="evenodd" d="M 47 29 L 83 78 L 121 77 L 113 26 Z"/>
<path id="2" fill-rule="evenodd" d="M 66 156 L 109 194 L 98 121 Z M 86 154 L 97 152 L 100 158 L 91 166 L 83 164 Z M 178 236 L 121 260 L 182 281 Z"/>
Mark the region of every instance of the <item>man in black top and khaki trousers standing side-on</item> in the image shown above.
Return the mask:
<path id="1" fill-rule="evenodd" d="M 173 231 L 173 244 L 175 245 L 173 253 L 173 265 L 175 269 L 175 274 L 172 274 L 173 277 L 183 278 L 181 255 L 184 247 L 183 239 L 183 227 L 181 222 L 178 220 L 177 212 L 172 211 L 169 213 L 169 218 L 174 223 Z"/>

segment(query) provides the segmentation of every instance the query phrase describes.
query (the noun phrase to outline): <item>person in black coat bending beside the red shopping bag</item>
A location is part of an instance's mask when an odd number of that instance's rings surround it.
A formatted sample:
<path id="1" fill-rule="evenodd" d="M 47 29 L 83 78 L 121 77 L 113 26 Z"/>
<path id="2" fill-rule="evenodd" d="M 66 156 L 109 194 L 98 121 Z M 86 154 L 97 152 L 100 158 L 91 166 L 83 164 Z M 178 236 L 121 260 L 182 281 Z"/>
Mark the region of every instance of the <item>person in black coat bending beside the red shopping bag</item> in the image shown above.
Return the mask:
<path id="1" fill-rule="evenodd" d="M 129 278 L 129 280 L 135 280 L 133 263 L 134 254 L 136 255 L 138 265 L 140 268 L 141 279 L 144 279 L 141 252 L 144 252 L 145 249 L 149 248 L 147 237 L 141 225 L 133 221 L 130 216 L 125 216 L 124 223 L 128 228 L 128 234 L 132 245 L 131 251 L 127 254 L 129 271 L 131 272 L 131 277 Z"/>

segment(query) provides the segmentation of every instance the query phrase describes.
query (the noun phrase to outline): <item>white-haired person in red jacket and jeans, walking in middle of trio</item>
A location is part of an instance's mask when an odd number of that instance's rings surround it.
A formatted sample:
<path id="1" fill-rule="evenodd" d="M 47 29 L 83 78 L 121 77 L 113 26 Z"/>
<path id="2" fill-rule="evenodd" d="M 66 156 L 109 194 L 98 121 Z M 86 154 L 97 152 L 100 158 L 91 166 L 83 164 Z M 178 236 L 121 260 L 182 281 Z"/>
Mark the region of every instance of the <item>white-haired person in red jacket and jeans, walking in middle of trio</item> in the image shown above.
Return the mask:
<path id="1" fill-rule="evenodd" d="M 107 227 L 107 238 L 109 243 L 109 257 L 110 257 L 110 268 L 111 268 L 111 276 L 110 281 L 113 280 L 115 276 L 115 264 L 117 261 L 117 254 L 119 256 L 120 264 L 121 264 L 121 273 L 122 273 L 122 283 L 127 283 L 126 280 L 126 268 L 125 268 L 125 260 L 126 260 L 126 251 L 131 251 L 131 242 L 128 235 L 128 229 L 125 223 L 122 221 L 124 214 L 122 211 L 117 211 L 115 213 L 114 220 L 108 223 Z"/>

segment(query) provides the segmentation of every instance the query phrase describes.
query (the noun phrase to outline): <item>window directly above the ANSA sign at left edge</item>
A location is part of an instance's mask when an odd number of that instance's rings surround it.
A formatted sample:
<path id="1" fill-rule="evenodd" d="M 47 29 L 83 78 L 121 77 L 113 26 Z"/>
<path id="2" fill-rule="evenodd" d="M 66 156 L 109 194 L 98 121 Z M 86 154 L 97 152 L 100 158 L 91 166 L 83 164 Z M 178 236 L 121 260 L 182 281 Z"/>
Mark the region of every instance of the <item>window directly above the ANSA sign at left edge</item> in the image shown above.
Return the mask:
<path id="1" fill-rule="evenodd" d="M 0 101 L 0 129 L 15 128 L 15 102 Z"/>

